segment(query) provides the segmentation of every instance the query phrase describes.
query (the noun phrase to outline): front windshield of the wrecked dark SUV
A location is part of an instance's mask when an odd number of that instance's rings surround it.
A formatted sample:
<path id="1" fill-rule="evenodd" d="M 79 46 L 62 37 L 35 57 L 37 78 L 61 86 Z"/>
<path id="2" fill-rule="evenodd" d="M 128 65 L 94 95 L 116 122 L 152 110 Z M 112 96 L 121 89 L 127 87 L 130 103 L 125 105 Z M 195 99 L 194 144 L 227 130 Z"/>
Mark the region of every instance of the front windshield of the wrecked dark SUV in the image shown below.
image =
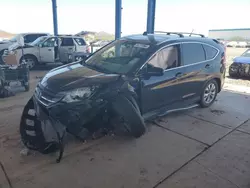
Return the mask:
<path id="1" fill-rule="evenodd" d="M 100 70 L 126 74 L 147 54 L 150 45 L 128 40 L 116 40 L 94 53 L 86 64 Z"/>

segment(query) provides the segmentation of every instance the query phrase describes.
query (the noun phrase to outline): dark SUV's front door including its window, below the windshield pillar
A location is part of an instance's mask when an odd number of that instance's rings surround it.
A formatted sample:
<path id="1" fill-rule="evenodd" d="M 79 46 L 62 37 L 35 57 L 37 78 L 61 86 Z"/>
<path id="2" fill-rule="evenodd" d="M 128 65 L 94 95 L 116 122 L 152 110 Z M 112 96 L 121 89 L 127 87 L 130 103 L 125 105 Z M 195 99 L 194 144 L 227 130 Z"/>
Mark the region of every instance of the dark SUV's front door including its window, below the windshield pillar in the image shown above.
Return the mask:
<path id="1" fill-rule="evenodd" d="M 185 67 L 181 66 L 180 45 L 167 46 L 157 52 L 145 65 L 146 69 L 160 67 L 164 69 L 163 76 L 151 76 L 141 81 L 142 113 L 157 110 L 161 107 L 178 108 L 182 100 L 180 85 Z"/>

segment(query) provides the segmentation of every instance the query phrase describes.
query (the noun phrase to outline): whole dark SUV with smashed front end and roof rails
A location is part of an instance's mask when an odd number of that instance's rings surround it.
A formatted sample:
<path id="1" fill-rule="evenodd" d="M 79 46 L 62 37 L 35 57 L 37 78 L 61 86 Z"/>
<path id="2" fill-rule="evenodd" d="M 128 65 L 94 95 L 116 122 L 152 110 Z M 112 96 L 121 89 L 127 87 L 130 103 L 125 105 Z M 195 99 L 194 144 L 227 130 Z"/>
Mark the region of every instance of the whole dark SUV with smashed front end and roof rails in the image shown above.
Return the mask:
<path id="1" fill-rule="evenodd" d="M 61 147 L 66 131 L 84 139 L 117 125 L 140 137 L 146 120 L 210 106 L 224 84 L 225 51 L 215 39 L 192 35 L 123 37 L 49 71 L 24 108 L 24 144 L 48 153 Z"/>

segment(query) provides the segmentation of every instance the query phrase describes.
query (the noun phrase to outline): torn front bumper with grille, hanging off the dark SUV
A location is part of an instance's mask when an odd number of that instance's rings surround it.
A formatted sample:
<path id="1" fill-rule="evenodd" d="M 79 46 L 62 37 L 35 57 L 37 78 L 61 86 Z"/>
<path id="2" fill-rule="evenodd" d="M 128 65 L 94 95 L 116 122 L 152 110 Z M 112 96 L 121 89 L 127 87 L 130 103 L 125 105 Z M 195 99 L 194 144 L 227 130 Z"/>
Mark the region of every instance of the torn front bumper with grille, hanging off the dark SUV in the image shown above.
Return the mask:
<path id="1" fill-rule="evenodd" d="M 51 93 L 50 96 L 52 97 Z M 32 150 L 47 154 L 60 150 L 57 162 L 63 154 L 63 137 L 69 132 L 81 138 L 81 131 L 91 130 L 93 119 L 106 105 L 103 100 L 86 99 L 80 102 L 65 103 L 49 98 L 39 87 L 24 107 L 20 134 L 24 145 Z M 91 124 L 90 124 L 91 122 Z M 94 128 L 92 130 L 95 130 Z M 82 138 L 83 139 L 83 138 Z"/>

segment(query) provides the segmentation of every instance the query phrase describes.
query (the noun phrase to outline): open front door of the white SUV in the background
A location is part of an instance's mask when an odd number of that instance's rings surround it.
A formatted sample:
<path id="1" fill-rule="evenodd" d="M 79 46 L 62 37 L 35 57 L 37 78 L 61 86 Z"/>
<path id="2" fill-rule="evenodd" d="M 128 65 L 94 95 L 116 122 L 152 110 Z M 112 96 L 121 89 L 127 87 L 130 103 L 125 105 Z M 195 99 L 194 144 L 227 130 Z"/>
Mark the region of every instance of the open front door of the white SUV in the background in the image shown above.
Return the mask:
<path id="1" fill-rule="evenodd" d="M 55 62 L 55 46 L 56 46 L 56 38 L 51 37 L 48 38 L 40 47 L 40 60 L 45 63 Z"/>

